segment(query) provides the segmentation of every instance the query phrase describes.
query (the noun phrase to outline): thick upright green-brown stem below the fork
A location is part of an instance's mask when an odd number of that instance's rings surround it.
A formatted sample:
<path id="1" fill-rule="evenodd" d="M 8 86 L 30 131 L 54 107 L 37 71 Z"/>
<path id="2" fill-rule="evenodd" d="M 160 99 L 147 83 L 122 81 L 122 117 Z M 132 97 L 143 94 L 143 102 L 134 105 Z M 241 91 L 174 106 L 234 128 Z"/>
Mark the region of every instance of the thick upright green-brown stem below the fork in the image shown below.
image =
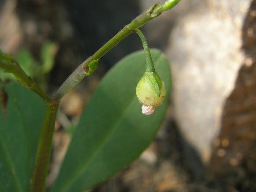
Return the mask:
<path id="1" fill-rule="evenodd" d="M 52 136 L 59 102 L 47 105 L 39 136 L 30 192 L 44 192 L 52 150 Z"/>

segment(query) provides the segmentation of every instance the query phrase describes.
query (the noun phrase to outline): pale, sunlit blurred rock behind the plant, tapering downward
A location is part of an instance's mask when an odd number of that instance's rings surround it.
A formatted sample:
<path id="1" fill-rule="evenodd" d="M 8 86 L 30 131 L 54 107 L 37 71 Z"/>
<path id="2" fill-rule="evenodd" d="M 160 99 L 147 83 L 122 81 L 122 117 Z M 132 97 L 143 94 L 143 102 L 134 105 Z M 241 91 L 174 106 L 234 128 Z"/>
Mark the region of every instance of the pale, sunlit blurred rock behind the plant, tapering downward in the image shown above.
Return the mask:
<path id="1" fill-rule="evenodd" d="M 174 113 L 182 135 L 203 162 L 221 130 L 227 97 L 245 56 L 242 26 L 251 0 L 181 1 L 166 54 L 173 74 Z M 193 161 L 193 160 L 191 160 Z"/>

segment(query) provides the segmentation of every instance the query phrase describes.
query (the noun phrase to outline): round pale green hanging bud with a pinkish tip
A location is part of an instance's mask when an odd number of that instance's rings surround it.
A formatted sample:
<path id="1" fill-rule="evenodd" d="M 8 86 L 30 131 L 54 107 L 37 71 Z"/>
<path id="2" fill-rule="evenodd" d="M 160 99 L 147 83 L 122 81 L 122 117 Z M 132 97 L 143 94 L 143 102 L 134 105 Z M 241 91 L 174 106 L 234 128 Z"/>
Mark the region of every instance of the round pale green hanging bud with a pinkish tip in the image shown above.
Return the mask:
<path id="1" fill-rule="evenodd" d="M 163 102 L 165 97 L 164 82 L 156 72 L 145 72 L 137 84 L 136 95 L 143 105 L 141 107 L 142 113 L 150 115 Z"/>

